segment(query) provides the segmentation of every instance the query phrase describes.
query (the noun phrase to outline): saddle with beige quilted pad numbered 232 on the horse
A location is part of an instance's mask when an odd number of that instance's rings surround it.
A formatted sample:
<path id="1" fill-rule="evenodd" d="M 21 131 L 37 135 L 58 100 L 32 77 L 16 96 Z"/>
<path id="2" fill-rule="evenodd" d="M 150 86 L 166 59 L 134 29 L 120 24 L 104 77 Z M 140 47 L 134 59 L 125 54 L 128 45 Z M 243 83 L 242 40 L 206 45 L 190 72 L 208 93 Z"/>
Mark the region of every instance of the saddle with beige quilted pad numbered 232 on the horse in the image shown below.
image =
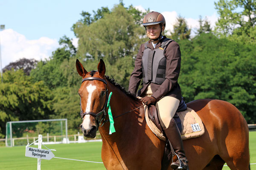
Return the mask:
<path id="1" fill-rule="evenodd" d="M 158 138 L 166 142 L 163 153 L 163 159 L 161 163 L 161 170 L 167 170 L 170 162 L 172 161 L 174 151 L 172 150 L 172 147 L 170 146 L 168 140 L 166 140 L 166 136 L 164 136 L 163 128 L 160 124 L 157 108 L 155 107 L 155 105 L 149 105 L 145 108 L 145 118 L 152 132 Z M 183 140 L 192 137 L 198 137 L 204 134 L 204 125 L 200 117 L 197 115 L 195 111 L 193 111 L 190 108 L 187 108 L 186 103 L 183 100 L 183 97 L 182 100 L 180 101 L 180 104 L 175 115 L 173 116 L 173 119 L 175 120 L 178 129 L 180 130 L 181 138 Z"/>

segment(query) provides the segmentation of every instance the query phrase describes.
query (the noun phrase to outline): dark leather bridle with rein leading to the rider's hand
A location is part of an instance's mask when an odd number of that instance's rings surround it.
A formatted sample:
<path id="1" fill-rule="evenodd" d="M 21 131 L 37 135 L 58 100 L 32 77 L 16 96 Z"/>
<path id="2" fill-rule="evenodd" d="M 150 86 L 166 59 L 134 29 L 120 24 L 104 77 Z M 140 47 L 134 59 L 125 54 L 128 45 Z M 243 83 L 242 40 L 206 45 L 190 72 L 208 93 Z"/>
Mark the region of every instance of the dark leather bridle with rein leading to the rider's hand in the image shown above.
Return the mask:
<path id="1" fill-rule="evenodd" d="M 105 79 L 102 79 L 102 78 L 99 78 L 99 77 L 87 77 L 87 78 L 84 78 L 84 79 L 82 79 L 82 83 L 83 83 L 84 81 L 86 81 L 86 80 L 98 80 L 98 81 L 104 82 L 105 85 L 107 85 L 107 82 L 105 81 Z M 105 120 L 107 103 L 108 103 L 108 89 L 107 89 L 107 91 L 106 91 L 105 104 L 104 104 L 102 110 L 99 111 L 98 113 L 94 113 L 94 112 L 83 112 L 82 106 L 81 106 L 81 98 L 80 98 L 80 104 L 79 104 L 79 105 L 80 105 L 80 108 L 81 108 L 81 111 L 80 111 L 81 119 L 83 119 L 85 115 L 90 114 L 90 115 L 92 115 L 92 116 L 95 116 L 96 122 L 97 122 L 98 125 L 102 122 L 103 119 L 104 119 L 104 121 L 103 121 L 102 125 L 103 125 L 105 122 L 109 122 L 109 120 Z M 144 104 L 144 105 L 145 105 L 145 104 Z M 135 109 L 133 109 L 133 110 L 131 110 L 131 111 L 135 111 L 136 109 L 138 109 L 138 108 L 140 108 L 140 107 L 142 107 L 142 106 L 144 106 L 144 105 L 141 105 L 141 106 L 139 106 L 139 107 L 137 107 L 137 108 L 135 108 Z M 131 112 L 131 111 L 122 113 L 122 114 L 120 114 L 119 116 L 122 116 L 122 115 L 124 115 L 124 114 L 126 114 L 126 113 L 129 113 L 129 112 Z M 99 116 L 100 116 L 102 113 L 104 113 L 104 115 L 102 116 L 102 119 L 99 121 Z M 115 118 L 117 118 L 117 117 L 119 117 L 119 116 L 115 116 L 115 117 L 113 117 L 113 119 L 115 119 Z M 102 125 L 100 125 L 100 126 L 102 126 Z"/>

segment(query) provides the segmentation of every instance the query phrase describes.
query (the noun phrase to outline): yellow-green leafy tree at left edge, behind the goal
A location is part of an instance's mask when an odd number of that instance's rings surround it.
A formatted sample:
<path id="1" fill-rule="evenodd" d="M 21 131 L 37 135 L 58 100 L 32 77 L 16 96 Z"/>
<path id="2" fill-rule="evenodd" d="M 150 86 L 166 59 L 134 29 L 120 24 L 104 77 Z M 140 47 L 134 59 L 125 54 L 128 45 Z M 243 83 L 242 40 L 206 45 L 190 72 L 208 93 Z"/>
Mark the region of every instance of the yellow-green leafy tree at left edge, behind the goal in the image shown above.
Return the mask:
<path id="1" fill-rule="evenodd" d="M 47 119 L 52 113 L 49 88 L 41 81 L 33 83 L 22 70 L 3 74 L 0 99 L 0 138 L 8 121 Z"/>

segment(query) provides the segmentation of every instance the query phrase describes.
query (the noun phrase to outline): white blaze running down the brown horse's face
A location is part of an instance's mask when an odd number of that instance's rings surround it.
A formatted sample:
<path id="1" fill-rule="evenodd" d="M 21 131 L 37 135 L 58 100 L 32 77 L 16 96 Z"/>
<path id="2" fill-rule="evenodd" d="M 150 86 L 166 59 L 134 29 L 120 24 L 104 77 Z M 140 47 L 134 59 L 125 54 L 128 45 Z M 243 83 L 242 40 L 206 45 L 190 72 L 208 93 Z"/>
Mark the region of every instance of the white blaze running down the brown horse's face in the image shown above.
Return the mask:
<path id="1" fill-rule="evenodd" d="M 90 112 L 90 107 L 91 107 L 91 100 L 92 100 L 92 94 L 93 94 L 93 91 L 96 89 L 96 85 L 88 85 L 86 87 L 89 95 L 88 95 L 88 99 L 87 99 L 87 105 L 86 105 L 86 110 L 85 112 Z M 89 129 L 90 127 L 90 115 L 87 114 L 84 116 L 84 121 L 82 123 L 84 129 Z"/>

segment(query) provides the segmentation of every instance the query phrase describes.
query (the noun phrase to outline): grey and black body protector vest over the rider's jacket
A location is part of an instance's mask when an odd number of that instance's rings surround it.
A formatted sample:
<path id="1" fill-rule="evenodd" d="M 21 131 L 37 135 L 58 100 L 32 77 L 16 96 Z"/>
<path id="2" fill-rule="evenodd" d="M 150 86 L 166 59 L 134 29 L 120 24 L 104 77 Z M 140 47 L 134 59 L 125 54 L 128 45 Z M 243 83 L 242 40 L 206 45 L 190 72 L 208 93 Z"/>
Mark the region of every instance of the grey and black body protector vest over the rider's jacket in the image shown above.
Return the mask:
<path id="1" fill-rule="evenodd" d="M 163 40 L 161 46 L 154 50 L 147 47 L 148 42 L 145 43 L 145 50 L 142 56 L 144 84 L 153 82 L 160 85 L 164 82 L 166 75 L 166 57 L 164 51 L 167 45 L 172 41 L 174 40 L 166 38 Z"/>

